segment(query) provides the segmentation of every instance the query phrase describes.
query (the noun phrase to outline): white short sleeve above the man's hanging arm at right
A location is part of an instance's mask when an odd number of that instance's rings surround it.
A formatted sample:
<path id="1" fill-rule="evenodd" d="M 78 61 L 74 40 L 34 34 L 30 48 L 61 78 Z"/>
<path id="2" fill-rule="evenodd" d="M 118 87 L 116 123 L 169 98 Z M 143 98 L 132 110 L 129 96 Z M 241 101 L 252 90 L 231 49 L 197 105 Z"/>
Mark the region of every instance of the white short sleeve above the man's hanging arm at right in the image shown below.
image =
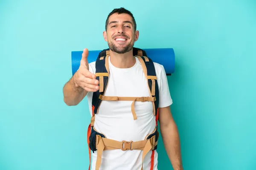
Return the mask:
<path id="1" fill-rule="evenodd" d="M 159 88 L 159 108 L 164 108 L 172 105 L 172 98 L 169 91 L 168 80 L 163 65 L 158 65 L 159 77 L 157 78 L 157 84 Z"/>

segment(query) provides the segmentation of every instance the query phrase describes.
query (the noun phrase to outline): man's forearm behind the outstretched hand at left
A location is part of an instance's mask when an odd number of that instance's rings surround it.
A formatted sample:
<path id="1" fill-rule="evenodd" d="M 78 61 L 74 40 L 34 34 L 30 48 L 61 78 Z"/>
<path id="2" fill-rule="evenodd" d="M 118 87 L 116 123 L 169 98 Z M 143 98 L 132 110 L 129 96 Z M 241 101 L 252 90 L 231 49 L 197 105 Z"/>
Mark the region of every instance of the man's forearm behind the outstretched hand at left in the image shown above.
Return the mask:
<path id="1" fill-rule="evenodd" d="M 63 87 L 64 102 L 69 105 L 78 105 L 87 93 L 81 87 L 76 87 L 72 77 Z"/>

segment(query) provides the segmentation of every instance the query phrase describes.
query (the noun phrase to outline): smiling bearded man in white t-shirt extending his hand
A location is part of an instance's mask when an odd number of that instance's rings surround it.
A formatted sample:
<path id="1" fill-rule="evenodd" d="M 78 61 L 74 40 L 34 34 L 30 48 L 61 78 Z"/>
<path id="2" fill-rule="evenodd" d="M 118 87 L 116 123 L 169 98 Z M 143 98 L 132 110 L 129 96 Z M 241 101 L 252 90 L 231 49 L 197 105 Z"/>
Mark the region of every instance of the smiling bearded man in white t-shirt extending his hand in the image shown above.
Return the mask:
<path id="1" fill-rule="evenodd" d="M 107 59 L 109 67 L 108 86 L 105 96 L 150 96 L 148 84 L 143 72 L 142 60 L 133 55 L 133 46 L 139 38 L 133 14 L 125 8 L 114 9 L 106 20 L 105 41 L 110 48 Z M 78 71 L 64 85 L 64 102 L 78 105 L 85 96 L 89 106 L 92 105 L 93 93 L 99 91 L 100 83 L 96 79 L 96 63 L 88 63 L 88 50 L 84 49 Z M 177 126 L 172 118 L 166 73 L 162 65 L 154 63 L 159 88 L 159 125 L 164 147 L 174 170 L 183 170 L 180 141 Z M 132 101 L 102 101 L 95 116 L 94 127 L 106 138 L 115 141 L 141 141 L 156 127 L 152 102 L 136 102 L 134 110 L 136 119 L 131 113 Z M 92 113 L 90 108 L 90 113 Z M 99 146 L 98 146 L 99 147 Z M 99 149 L 98 149 L 99 152 Z M 100 157 L 100 158 L 99 158 Z M 101 159 L 102 170 L 140 170 L 143 150 L 104 150 L 97 157 L 92 153 L 92 169 L 97 169 L 96 160 Z M 144 170 L 157 170 L 157 151 L 150 150 L 143 159 Z M 166 169 L 169 169 L 166 167 Z"/>

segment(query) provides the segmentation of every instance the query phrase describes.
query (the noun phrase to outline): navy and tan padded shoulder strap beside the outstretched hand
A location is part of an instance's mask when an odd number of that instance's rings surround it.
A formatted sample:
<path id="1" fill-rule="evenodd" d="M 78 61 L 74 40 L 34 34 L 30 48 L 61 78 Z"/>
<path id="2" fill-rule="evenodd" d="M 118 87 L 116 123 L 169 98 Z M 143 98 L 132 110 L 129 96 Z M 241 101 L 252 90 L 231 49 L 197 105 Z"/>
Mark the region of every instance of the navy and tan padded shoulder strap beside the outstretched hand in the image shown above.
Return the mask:
<path id="1" fill-rule="evenodd" d="M 104 96 L 108 85 L 109 66 L 108 58 L 110 55 L 109 48 L 102 50 L 96 59 L 96 79 L 99 80 L 99 90 L 93 92 L 92 108 L 93 114 L 97 114 L 102 100 L 100 95 Z"/>

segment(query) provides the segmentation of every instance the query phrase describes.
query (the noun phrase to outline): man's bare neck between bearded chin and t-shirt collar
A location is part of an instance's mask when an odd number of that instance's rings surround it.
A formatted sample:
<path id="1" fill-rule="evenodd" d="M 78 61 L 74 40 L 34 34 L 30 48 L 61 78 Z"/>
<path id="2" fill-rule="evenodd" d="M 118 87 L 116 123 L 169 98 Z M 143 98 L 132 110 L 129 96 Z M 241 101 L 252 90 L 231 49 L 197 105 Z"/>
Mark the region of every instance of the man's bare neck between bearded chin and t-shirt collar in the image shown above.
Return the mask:
<path id="1" fill-rule="evenodd" d="M 116 68 L 131 68 L 134 66 L 136 59 L 133 56 L 133 50 L 125 54 L 118 54 L 110 50 L 110 61 Z"/>

